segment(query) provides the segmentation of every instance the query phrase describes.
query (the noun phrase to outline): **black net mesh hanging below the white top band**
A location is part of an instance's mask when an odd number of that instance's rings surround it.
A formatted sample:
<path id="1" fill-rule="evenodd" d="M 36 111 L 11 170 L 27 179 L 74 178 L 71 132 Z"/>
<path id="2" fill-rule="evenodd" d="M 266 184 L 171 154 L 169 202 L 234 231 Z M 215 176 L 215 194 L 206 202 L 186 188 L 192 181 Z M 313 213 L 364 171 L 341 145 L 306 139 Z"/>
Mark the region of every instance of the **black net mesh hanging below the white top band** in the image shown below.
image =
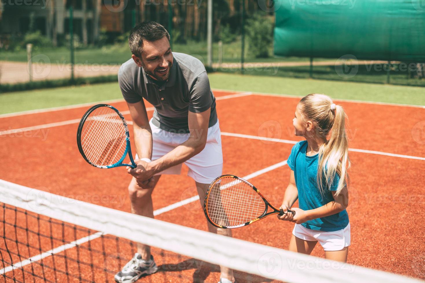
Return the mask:
<path id="1" fill-rule="evenodd" d="M 115 282 L 114 275 L 137 251 L 137 243 L 125 238 L 6 203 L 1 203 L 1 210 L 4 241 L 0 245 L 0 275 L 6 282 Z M 200 265 L 193 258 L 156 247 L 151 253 L 159 266 L 160 276 L 155 279 L 161 282 L 190 282 L 192 278 L 178 269 Z"/>

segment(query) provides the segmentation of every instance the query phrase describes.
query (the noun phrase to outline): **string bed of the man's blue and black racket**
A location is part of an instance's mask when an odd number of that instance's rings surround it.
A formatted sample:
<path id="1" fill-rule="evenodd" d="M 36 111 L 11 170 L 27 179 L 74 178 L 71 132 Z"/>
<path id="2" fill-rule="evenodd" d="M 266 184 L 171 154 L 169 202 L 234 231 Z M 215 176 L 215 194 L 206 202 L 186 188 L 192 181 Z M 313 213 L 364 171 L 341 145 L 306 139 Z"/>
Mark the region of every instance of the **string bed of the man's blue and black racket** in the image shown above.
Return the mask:
<path id="1" fill-rule="evenodd" d="M 94 165 L 112 165 L 124 155 L 126 138 L 126 129 L 118 113 L 109 107 L 99 107 L 85 120 L 81 146 Z"/>

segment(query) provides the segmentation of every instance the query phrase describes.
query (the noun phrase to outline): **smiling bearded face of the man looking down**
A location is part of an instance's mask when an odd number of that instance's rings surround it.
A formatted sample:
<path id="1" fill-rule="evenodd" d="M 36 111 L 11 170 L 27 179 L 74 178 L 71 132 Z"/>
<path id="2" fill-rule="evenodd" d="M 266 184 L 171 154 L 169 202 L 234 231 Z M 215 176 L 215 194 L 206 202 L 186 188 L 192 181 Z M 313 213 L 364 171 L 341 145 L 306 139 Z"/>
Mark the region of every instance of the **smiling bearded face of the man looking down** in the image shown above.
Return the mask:
<path id="1" fill-rule="evenodd" d="M 142 58 L 132 56 L 134 62 L 157 81 L 166 81 L 170 76 L 173 66 L 173 53 L 171 53 L 170 42 L 167 37 L 149 42 L 143 41 Z"/>

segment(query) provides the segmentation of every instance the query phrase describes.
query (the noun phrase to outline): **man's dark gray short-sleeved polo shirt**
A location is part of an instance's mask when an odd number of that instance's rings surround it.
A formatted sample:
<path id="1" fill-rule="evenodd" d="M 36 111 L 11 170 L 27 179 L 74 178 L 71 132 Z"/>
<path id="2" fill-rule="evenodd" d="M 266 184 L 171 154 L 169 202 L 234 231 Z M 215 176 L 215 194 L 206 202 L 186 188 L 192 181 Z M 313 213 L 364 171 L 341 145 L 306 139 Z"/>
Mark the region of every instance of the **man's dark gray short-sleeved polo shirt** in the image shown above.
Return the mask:
<path id="1" fill-rule="evenodd" d="M 133 59 L 119 68 L 118 81 L 128 103 L 146 99 L 155 106 L 152 123 L 169 132 L 189 133 L 188 112 L 204 112 L 211 107 L 208 127 L 217 123 L 215 97 L 204 65 L 193 56 L 173 52 L 170 76 L 161 87 Z"/>

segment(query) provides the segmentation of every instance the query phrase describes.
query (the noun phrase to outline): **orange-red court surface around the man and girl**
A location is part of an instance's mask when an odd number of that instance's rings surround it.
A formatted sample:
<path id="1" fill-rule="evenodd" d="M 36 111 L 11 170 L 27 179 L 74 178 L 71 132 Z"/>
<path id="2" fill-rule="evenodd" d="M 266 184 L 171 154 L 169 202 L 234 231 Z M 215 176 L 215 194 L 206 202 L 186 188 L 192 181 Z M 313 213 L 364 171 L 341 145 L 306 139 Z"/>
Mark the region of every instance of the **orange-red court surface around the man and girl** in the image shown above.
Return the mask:
<path id="1" fill-rule="evenodd" d="M 236 92 L 214 93 L 216 97 L 220 97 Z M 292 118 L 298 101 L 299 98 L 255 94 L 218 100 L 218 118 L 223 133 L 223 173 L 243 177 L 286 160 L 292 143 L 255 138 L 272 137 L 294 142 L 301 140 L 294 136 L 292 129 Z M 347 211 L 351 223 L 351 246 L 348 263 L 423 280 L 425 109 L 348 101 L 340 101 L 338 104 L 344 106 L 349 117 L 350 148 L 365 150 L 350 151 L 352 168 L 349 171 L 351 187 Z M 127 110 L 124 101 L 112 105 L 122 112 Z M 0 134 L 3 134 L 0 135 L 1 179 L 129 212 L 127 185 L 130 175 L 125 172 L 125 168 L 102 170 L 88 165 L 83 160 L 76 144 L 78 122 L 26 132 L 4 132 L 47 123 L 78 121 L 88 108 L 84 106 L 0 117 Z M 152 113 L 148 112 L 150 116 Z M 127 121 L 131 120 L 128 114 L 125 118 Z M 227 133 L 249 136 L 234 137 Z M 370 151 L 380 151 L 384 154 L 374 154 Z M 191 178 L 185 176 L 186 172 L 187 168 L 184 168 L 181 176 L 164 175 L 161 178 L 152 196 L 154 210 L 195 195 L 195 184 Z M 250 182 L 256 185 L 270 202 L 280 205 L 289 182 L 289 172 L 289 167 L 283 165 L 251 179 Z M 100 199 L 99 196 L 105 197 Z M 207 230 L 206 219 L 198 202 L 162 213 L 156 216 L 156 219 Z M 270 216 L 256 224 L 233 230 L 233 236 L 286 249 L 293 225 Z M 37 240 L 34 238 L 34 241 Z M 3 241 L 0 245 L 4 249 Z M 45 245 L 46 250 L 51 249 L 50 242 Z M 99 243 L 94 240 L 93 245 Z M 25 255 L 26 251 L 20 252 Z M 68 249 L 67 252 L 72 254 L 75 251 Z M 116 250 L 108 249 L 107 252 L 116 253 Z M 130 250 L 121 252 L 131 253 Z M 160 251 L 154 249 L 154 252 Z M 31 256 L 36 254 L 37 252 Z M 324 256 L 319 244 L 312 255 Z M 80 256 L 88 257 L 83 252 Z M 20 260 L 24 259 L 26 258 Z M 45 263 L 48 261 L 46 258 Z M 95 261 L 102 265 L 104 259 Z M 163 259 L 157 260 L 157 263 L 164 264 L 161 272 L 144 277 L 138 282 L 217 282 L 219 279 L 218 266 L 201 264 L 202 267 L 197 269 L 195 263 L 198 262 L 187 257 L 179 258 L 167 253 Z M 26 270 L 31 272 L 30 267 Z M 14 270 L 19 280 L 22 280 L 21 273 L 20 269 Z M 7 275 L 11 276 L 11 272 Z M 26 274 L 26 278 L 27 276 Z M 88 277 L 91 278 L 91 272 Z M 100 282 L 100 279 L 95 279 Z M 236 279 L 239 282 L 269 281 L 260 277 L 246 277 L 241 273 L 236 273 Z M 109 280 L 113 281 L 112 276 Z"/>

